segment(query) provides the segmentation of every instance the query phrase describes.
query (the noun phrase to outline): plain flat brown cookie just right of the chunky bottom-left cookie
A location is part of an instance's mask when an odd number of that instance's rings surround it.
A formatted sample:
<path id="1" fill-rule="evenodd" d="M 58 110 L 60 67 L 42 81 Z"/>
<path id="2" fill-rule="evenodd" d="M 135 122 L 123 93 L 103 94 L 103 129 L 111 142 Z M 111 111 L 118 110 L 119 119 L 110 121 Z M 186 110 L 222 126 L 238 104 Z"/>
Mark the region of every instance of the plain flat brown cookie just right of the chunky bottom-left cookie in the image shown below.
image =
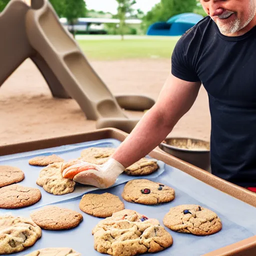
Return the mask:
<path id="1" fill-rule="evenodd" d="M 31 213 L 30 217 L 39 227 L 48 230 L 71 229 L 82 221 L 80 213 L 57 206 L 44 206 Z"/>

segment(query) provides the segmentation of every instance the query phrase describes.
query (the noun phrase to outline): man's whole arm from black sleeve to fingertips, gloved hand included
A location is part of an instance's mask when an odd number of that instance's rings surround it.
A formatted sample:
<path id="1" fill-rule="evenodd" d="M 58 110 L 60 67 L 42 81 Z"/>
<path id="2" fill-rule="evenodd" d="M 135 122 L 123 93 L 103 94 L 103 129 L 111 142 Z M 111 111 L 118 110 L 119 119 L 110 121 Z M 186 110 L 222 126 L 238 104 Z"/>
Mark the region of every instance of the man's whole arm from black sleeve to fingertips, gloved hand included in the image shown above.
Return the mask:
<path id="1" fill-rule="evenodd" d="M 106 188 L 126 168 L 148 154 L 167 136 L 194 102 L 200 82 L 187 82 L 169 75 L 157 102 L 104 164 L 83 160 L 69 162 L 61 168 L 63 177 L 86 185 Z M 89 168 L 89 169 L 88 169 Z"/>

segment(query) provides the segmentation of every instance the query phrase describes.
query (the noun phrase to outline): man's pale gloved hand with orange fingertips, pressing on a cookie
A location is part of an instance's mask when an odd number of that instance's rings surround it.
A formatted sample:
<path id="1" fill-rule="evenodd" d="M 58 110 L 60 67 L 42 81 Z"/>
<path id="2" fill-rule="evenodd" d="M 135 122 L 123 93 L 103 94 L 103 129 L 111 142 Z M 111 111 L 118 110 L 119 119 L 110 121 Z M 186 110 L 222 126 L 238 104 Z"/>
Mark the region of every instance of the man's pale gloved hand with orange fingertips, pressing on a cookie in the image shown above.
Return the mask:
<path id="1" fill-rule="evenodd" d="M 98 188 L 107 188 L 113 185 L 124 167 L 113 158 L 101 165 L 92 164 L 83 160 L 71 160 L 61 166 L 62 176 L 74 181 L 92 185 Z"/>

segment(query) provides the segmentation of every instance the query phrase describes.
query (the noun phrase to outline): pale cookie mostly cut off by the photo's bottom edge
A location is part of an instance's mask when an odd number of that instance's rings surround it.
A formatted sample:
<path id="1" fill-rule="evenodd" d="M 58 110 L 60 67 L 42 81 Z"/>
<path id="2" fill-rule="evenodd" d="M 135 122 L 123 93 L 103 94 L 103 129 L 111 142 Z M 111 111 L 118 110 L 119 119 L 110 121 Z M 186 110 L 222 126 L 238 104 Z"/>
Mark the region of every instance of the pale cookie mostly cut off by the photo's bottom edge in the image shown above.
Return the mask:
<path id="1" fill-rule="evenodd" d="M 81 256 L 79 252 L 76 252 L 75 250 L 71 248 L 44 248 L 35 250 L 29 254 L 26 254 L 24 256 Z"/>

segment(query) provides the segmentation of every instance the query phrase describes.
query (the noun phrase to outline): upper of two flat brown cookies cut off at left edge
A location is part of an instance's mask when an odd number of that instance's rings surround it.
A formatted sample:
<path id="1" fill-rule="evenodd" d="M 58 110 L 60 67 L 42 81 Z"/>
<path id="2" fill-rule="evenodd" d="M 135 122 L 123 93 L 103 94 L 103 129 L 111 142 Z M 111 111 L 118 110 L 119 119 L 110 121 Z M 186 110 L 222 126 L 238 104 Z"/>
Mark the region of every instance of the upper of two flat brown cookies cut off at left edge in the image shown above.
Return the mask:
<path id="1" fill-rule="evenodd" d="M 24 179 L 24 172 L 17 167 L 0 165 L 0 187 L 17 183 Z"/>

